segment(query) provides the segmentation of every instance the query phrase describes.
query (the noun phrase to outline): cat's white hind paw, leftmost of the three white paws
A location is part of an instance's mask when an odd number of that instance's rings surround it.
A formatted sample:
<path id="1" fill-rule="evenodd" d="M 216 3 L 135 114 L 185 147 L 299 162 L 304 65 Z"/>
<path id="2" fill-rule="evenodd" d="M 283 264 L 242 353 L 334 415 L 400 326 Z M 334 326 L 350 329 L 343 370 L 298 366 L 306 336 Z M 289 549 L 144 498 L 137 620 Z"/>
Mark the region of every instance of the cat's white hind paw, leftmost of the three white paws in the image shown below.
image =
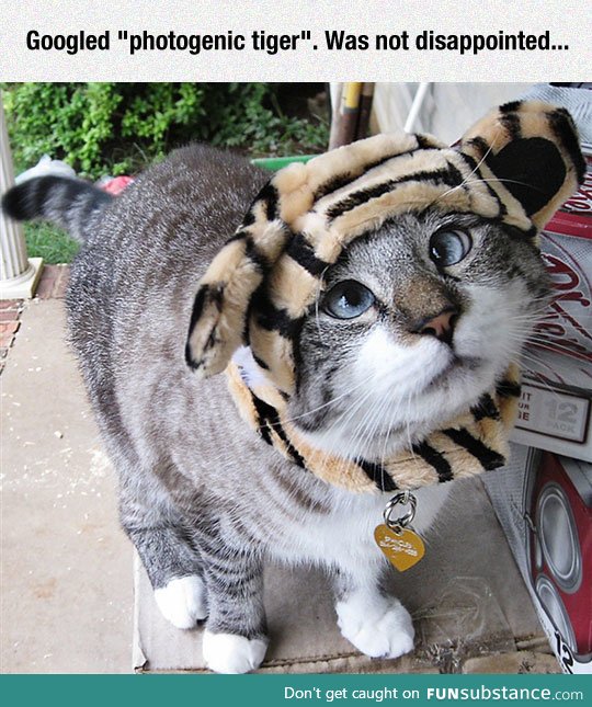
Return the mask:
<path id="1" fill-rule="evenodd" d="M 205 586 L 196 574 L 171 580 L 155 590 L 155 600 L 162 616 L 177 628 L 193 628 L 207 616 Z"/>

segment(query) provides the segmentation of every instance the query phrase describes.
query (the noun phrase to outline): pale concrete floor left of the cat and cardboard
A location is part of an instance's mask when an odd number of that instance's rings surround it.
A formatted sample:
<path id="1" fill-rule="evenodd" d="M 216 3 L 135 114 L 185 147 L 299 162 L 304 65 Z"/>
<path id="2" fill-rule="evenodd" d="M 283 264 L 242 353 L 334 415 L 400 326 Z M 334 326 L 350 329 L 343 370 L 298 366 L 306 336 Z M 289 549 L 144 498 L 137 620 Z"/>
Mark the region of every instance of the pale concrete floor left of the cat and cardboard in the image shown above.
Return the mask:
<path id="1" fill-rule="evenodd" d="M 0 385 L 0 671 L 129 672 L 132 547 L 60 300 L 25 305 Z"/>

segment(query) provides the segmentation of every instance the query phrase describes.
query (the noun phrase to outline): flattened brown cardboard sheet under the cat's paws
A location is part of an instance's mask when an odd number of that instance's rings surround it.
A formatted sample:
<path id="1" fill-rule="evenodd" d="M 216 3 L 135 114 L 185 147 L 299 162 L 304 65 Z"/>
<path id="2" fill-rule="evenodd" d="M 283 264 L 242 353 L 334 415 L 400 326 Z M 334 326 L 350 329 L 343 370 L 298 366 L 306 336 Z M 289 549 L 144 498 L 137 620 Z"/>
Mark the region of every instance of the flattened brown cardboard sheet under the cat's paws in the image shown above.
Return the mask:
<path id="1" fill-rule="evenodd" d="M 513 652 L 521 641 L 544 639 L 481 481 L 454 483 L 425 538 L 424 560 L 389 575 L 390 590 L 413 616 L 413 654 L 397 660 L 360 654 L 339 632 L 329 582 L 320 571 L 269 567 L 264 598 L 271 641 L 259 672 L 449 672 L 466 658 Z M 168 624 L 137 559 L 135 586 L 134 669 L 207 672 L 202 628 L 183 631 Z"/>

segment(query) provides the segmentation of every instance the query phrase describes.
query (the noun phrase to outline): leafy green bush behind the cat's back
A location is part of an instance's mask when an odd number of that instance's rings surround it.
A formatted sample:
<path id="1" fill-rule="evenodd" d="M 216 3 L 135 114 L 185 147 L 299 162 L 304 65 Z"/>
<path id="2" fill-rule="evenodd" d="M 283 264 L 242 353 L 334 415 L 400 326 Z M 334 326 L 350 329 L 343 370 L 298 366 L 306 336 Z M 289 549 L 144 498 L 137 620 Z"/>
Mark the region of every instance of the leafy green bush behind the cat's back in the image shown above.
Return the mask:
<path id="1" fill-rule="evenodd" d="M 90 179 L 134 173 L 192 140 L 252 157 L 326 149 L 319 118 L 285 115 L 270 83 L 1 84 L 16 171 L 42 155 Z"/>

